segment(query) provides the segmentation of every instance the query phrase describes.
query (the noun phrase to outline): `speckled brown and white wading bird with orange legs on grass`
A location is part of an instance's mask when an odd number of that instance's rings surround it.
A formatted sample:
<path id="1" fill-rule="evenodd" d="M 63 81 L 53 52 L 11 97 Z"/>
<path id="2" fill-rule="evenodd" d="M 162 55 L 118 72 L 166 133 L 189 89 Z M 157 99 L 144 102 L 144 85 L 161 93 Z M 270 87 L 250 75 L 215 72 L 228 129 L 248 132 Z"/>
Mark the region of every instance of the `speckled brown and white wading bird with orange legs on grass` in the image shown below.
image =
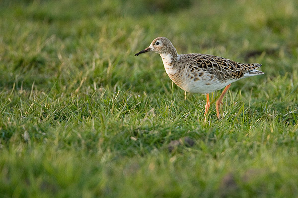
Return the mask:
<path id="1" fill-rule="evenodd" d="M 165 37 L 157 37 L 150 46 L 138 53 L 153 51 L 161 56 L 169 78 L 182 90 L 189 93 L 206 94 L 204 117 L 210 108 L 209 94 L 224 88 L 216 101 L 217 117 L 220 105 L 231 83 L 242 78 L 264 74 L 257 70 L 262 64 L 243 64 L 224 57 L 203 53 L 178 54 L 173 44 Z"/>

